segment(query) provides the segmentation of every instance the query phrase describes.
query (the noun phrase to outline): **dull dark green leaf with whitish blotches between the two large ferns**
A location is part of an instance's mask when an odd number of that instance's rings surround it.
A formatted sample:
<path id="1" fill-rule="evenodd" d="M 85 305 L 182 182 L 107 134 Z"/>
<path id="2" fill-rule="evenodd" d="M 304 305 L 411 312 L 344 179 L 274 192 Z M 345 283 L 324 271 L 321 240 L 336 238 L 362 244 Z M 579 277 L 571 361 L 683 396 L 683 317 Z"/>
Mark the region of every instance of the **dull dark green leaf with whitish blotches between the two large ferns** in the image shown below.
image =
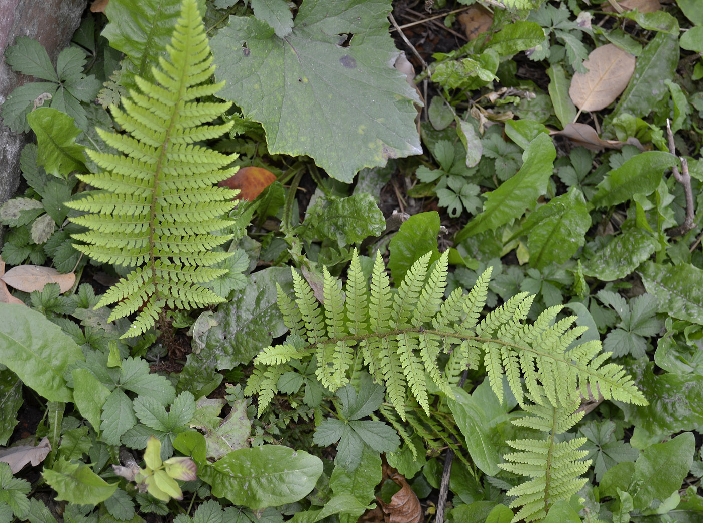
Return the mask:
<path id="1" fill-rule="evenodd" d="M 247 278 L 231 301 L 217 309 L 218 325 L 207 331 L 205 348 L 188 357 L 188 366 L 219 370 L 249 363 L 274 337 L 288 330 L 276 302 L 276 283 L 292 295 L 290 269 L 270 267 Z"/>

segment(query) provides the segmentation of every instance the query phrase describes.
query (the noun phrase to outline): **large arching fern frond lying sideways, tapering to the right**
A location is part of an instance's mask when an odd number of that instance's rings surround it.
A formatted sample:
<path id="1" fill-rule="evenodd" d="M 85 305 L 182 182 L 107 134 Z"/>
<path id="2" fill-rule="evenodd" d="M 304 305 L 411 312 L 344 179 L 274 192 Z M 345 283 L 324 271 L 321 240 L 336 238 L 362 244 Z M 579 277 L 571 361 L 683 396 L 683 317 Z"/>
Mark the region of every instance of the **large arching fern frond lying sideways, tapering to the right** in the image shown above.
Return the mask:
<path id="1" fill-rule="evenodd" d="M 568 349 L 585 329 L 571 328 L 574 316 L 554 323 L 561 307 L 547 309 L 534 324 L 524 323 L 533 299 L 524 293 L 479 322 L 490 269 L 468 295 L 456 290 L 444 299 L 449 254 L 440 257 L 428 276 L 430 255 L 420 257 L 397 292 L 392 292 L 378 254 L 369 293 L 354 252 L 346 303 L 337 281 L 325 271 L 323 306 L 294 270 L 295 303 L 278 292 L 283 318 L 292 333 L 285 344 L 266 347 L 257 356 L 247 383 L 247 394 L 259 394 L 259 413 L 273 398 L 278 377 L 292 370 L 288 362 L 316 354 L 318 379 L 335 391 L 349 382 L 347 370 L 359 350 L 370 374 L 385 384 L 389 401 L 403 419 L 408 389 L 430 414 L 425 373 L 451 395 L 449 383 L 467 366 L 478 368 L 481 358 L 498 398 L 503 397 L 505 374 L 523 408 L 525 387 L 529 397 L 544 406 L 571 405 L 579 397 L 579 387 L 586 385 L 599 390 L 605 399 L 647 403 L 621 366 L 604 365 L 609 354 L 599 354 L 600 342 Z M 437 366 L 440 352 L 451 354 L 444 375 Z"/>

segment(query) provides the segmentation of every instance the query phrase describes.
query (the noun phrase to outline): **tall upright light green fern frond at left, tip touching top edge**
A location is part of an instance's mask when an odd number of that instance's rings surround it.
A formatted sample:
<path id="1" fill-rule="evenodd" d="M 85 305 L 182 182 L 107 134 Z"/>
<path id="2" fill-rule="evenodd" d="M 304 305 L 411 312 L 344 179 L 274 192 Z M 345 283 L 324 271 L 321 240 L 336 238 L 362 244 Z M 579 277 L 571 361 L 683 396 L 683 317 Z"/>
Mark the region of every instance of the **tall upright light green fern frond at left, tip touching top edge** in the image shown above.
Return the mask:
<path id="1" fill-rule="evenodd" d="M 223 169 L 233 156 L 195 145 L 226 133 L 232 122 L 210 125 L 231 103 L 201 103 L 223 86 L 212 84 L 212 55 L 195 0 L 183 0 L 169 60 L 159 58 L 153 74 L 160 85 L 136 77 L 142 91 L 122 98 L 124 110 L 112 116 L 124 133 L 98 129 L 108 146 L 124 154 L 88 150 L 103 172 L 78 178 L 102 191 L 66 205 L 86 212 L 72 218 L 89 228 L 73 238 L 75 247 L 98 262 L 136 269 L 105 293 L 98 307 L 120 302 L 110 321 L 133 314 L 136 320 L 123 337 L 150 328 L 165 306 L 178 309 L 223 302 L 205 283 L 226 270 L 211 269 L 230 254 L 210 249 L 231 235 L 212 231 L 233 221 L 235 191 L 214 187 L 236 172 Z"/>

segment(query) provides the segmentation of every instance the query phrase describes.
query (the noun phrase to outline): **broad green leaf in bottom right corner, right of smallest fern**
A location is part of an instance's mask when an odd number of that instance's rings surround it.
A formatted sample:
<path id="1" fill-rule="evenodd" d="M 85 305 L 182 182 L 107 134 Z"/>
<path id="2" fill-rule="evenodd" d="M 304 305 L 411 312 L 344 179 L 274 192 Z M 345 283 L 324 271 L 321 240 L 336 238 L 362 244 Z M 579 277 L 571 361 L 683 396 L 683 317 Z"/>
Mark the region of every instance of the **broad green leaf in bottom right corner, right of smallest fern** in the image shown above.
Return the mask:
<path id="1" fill-rule="evenodd" d="M 636 490 L 631 491 L 634 507 L 645 510 L 652 502 L 658 500 L 661 503 L 678 491 L 693 463 L 695 448 L 692 432 L 684 432 L 671 441 L 645 448 L 635 462 L 632 477 L 632 484 L 637 485 Z"/>

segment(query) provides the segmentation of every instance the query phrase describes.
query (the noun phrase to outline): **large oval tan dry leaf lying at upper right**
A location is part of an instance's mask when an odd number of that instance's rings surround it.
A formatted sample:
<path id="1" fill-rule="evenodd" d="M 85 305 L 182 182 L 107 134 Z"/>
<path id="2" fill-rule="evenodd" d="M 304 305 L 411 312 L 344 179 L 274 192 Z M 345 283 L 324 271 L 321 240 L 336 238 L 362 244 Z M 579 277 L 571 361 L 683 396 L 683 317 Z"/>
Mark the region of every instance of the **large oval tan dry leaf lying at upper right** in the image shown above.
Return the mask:
<path id="1" fill-rule="evenodd" d="M 625 90 L 635 71 L 635 57 L 613 44 L 593 49 L 583 60 L 588 72 L 574 73 L 569 96 L 582 111 L 606 108 Z"/>

